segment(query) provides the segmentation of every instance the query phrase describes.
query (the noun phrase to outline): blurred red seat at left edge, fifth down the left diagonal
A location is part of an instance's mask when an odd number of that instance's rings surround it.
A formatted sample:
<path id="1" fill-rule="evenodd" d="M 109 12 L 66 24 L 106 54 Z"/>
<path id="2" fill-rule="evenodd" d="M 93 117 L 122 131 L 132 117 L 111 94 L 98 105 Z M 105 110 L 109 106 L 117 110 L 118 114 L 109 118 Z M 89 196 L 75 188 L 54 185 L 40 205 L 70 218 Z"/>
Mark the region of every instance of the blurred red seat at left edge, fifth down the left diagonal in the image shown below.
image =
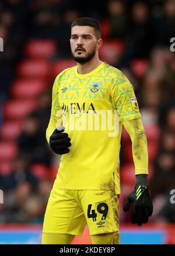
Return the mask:
<path id="1" fill-rule="evenodd" d="M 16 140 L 22 130 L 22 122 L 6 121 L 2 124 L 0 136 L 2 140 Z"/>

